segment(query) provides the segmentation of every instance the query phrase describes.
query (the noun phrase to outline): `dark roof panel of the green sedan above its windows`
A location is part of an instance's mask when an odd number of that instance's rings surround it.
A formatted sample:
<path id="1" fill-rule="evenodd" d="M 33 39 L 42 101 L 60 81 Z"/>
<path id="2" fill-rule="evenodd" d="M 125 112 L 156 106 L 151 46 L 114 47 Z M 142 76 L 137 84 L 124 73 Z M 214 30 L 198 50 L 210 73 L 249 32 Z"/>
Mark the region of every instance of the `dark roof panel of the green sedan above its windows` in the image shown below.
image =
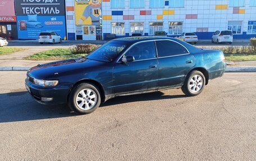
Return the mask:
<path id="1" fill-rule="evenodd" d="M 134 36 L 134 37 L 119 38 L 114 40 L 135 43 L 135 42 L 143 42 L 145 40 L 159 40 L 159 39 L 176 40 L 175 38 L 168 38 L 168 37 L 162 37 L 162 36 Z"/>

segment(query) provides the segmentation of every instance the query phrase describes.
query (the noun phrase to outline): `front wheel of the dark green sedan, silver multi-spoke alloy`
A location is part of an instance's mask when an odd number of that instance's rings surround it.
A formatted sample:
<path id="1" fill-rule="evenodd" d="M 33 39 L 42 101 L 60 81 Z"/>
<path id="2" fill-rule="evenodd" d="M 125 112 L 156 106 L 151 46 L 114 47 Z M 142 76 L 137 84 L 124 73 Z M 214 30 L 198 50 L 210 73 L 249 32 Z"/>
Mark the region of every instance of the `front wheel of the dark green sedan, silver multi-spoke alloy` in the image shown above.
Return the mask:
<path id="1" fill-rule="evenodd" d="M 89 83 L 76 85 L 68 96 L 68 107 L 79 114 L 89 114 L 95 111 L 101 103 L 97 86 Z"/>

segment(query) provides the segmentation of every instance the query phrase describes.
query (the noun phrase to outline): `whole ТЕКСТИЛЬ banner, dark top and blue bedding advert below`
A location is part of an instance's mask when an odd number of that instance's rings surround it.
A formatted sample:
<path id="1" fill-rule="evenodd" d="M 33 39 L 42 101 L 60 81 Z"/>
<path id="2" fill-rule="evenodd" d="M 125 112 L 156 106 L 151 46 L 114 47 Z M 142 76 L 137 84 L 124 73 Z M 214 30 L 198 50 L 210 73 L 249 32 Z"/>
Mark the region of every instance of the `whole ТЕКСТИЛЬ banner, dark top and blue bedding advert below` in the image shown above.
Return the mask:
<path id="1" fill-rule="evenodd" d="M 65 1 L 16 0 L 19 39 L 38 39 L 43 31 L 54 31 L 66 36 Z"/>

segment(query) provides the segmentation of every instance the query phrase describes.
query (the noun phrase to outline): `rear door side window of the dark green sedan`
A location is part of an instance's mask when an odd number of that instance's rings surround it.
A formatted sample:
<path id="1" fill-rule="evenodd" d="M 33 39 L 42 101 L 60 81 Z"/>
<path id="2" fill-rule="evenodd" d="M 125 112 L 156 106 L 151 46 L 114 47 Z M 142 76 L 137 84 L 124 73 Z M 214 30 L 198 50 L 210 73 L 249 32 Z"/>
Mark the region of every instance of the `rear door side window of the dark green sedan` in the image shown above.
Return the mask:
<path id="1" fill-rule="evenodd" d="M 188 50 L 179 43 L 170 40 L 156 41 L 158 57 L 179 56 L 188 54 Z"/>

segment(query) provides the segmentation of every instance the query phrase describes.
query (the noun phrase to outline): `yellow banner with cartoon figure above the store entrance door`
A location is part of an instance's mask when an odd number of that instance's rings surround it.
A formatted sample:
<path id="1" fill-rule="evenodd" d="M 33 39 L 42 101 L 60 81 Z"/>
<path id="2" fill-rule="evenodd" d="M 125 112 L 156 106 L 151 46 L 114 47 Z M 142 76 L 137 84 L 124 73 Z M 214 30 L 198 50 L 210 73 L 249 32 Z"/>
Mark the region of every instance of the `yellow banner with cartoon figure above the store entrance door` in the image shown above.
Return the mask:
<path id="1" fill-rule="evenodd" d="M 75 0 L 76 25 L 99 26 L 101 0 Z"/>

